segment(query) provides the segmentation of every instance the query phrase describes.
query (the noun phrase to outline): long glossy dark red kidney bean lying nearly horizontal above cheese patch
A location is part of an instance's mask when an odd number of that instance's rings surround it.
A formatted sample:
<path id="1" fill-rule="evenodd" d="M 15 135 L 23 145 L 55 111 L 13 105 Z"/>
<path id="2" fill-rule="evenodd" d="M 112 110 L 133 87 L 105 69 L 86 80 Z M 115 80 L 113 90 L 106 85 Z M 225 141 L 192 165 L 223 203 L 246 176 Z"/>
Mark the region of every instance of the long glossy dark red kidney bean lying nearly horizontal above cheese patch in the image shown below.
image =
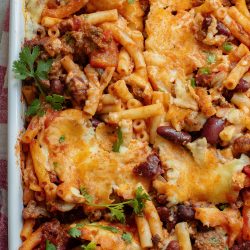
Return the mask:
<path id="1" fill-rule="evenodd" d="M 192 137 L 189 133 L 183 131 L 176 131 L 174 128 L 169 126 L 160 126 L 157 128 L 157 134 L 165 139 L 173 141 L 177 144 L 186 145 L 191 142 Z"/>

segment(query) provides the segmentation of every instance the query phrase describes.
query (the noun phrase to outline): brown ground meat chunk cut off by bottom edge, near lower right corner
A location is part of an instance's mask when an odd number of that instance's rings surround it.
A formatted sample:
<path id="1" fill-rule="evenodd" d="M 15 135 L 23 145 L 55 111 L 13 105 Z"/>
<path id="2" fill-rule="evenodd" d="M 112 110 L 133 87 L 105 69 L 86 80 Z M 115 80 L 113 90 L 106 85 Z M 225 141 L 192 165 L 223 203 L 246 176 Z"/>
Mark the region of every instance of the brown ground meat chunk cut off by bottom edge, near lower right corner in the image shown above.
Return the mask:
<path id="1" fill-rule="evenodd" d="M 225 250 L 227 247 L 224 232 L 221 230 L 197 233 L 194 238 L 194 249 L 197 250 Z"/>

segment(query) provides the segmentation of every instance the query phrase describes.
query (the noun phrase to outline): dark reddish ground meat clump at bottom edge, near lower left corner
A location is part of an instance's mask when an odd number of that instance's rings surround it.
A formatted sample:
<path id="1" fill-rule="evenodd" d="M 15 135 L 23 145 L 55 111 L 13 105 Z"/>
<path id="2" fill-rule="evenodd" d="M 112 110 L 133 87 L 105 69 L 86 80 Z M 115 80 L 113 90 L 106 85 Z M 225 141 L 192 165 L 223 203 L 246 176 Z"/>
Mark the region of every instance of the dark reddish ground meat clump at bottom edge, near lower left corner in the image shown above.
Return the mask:
<path id="1" fill-rule="evenodd" d="M 69 235 L 66 228 L 60 225 L 58 220 L 52 220 L 46 222 L 42 226 L 42 240 L 39 246 L 39 250 L 46 249 L 46 240 L 56 246 L 57 250 L 66 250 L 67 243 L 69 241 Z"/>

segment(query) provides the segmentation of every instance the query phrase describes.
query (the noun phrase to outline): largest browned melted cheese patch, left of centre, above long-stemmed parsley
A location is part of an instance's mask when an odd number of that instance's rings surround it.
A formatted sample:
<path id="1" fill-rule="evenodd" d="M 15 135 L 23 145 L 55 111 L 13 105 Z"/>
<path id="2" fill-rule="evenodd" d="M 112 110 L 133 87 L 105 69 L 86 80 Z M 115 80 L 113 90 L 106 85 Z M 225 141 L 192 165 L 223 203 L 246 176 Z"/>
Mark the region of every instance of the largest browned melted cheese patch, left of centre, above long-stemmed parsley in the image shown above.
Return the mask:
<path id="1" fill-rule="evenodd" d="M 62 182 L 57 195 L 69 203 L 83 202 L 79 195 L 84 187 L 97 203 L 111 203 L 113 190 L 125 199 L 133 198 L 140 182 L 148 188 L 149 181 L 137 178 L 132 170 L 146 160 L 150 148 L 132 140 L 124 153 L 107 150 L 105 137 L 96 136 L 90 121 L 79 110 L 65 110 L 51 120 L 38 135 L 41 150 L 35 152 L 44 159 L 47 171 L 55 171 Z M 64 141 L 60 141 L 60 137 Z M 39 167 L 39 166 L 38 166 Z"/>

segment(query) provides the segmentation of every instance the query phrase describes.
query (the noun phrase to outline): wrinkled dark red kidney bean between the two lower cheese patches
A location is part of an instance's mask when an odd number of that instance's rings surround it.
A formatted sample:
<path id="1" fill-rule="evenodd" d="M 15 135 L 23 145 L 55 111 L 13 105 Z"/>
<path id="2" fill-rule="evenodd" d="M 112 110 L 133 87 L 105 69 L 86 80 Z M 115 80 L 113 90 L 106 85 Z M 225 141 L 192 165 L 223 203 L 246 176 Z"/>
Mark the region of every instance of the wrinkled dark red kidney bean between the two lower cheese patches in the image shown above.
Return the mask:
<path id="1" fill-rule="evenodd" d="M 154 178 L 156 175 L 162 174 L 164 171 L 161 167 L 161 161 L 156 154 L 147 157 L 147 161 L 134 167 L 134 174 L 142 177 Z"/>

